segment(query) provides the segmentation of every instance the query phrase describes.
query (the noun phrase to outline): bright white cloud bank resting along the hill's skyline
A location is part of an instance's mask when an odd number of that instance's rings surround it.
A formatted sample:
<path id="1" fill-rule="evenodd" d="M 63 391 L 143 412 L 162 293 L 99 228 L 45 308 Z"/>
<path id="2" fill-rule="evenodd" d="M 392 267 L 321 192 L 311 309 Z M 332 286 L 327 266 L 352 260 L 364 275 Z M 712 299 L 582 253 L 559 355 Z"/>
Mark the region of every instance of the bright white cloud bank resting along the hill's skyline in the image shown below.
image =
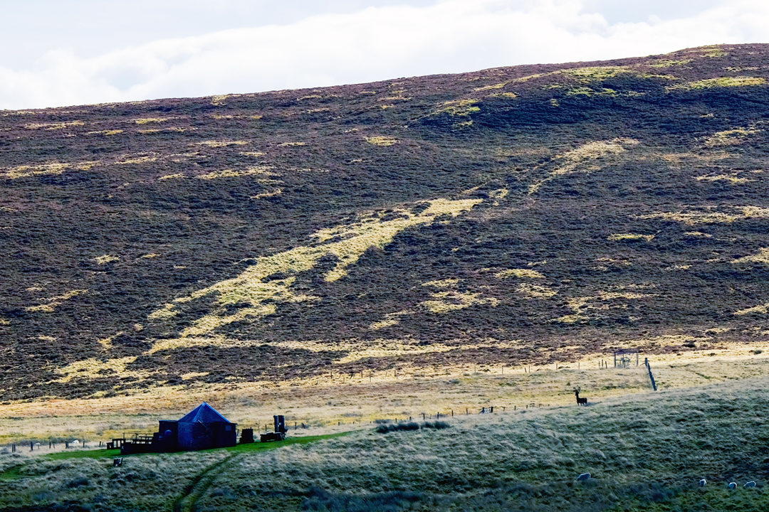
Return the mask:
<path id="1" fill-rule="evenodd" d="M 320 87 L 538 62 L 767 41 L 769 4 L 720 2 L 677 19 L 611 23 L 583 0 L 447 0 L 315 15 L 83 57 L 0 68 L 0 107 L 46 107 Z"/>

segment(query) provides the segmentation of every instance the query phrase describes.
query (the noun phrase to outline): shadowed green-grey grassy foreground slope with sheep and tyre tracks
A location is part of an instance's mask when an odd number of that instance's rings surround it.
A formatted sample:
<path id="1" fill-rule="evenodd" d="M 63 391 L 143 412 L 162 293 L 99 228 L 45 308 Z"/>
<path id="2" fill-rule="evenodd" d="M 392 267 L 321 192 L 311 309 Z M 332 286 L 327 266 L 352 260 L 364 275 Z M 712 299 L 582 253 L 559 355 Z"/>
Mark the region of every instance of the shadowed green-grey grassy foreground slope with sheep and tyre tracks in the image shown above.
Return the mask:
<path id="1" fill-rule="evenodd" d="M 449 418 L 444 430 L 370 428 L 270 451 L 147 454 L 123 467 L 5 454 L 0 510 L 766 510 L 767 385 Z M 594 478 L 575 481 L 584 471 Z M 748 480 L 757 488 L 727 490 Z"/>

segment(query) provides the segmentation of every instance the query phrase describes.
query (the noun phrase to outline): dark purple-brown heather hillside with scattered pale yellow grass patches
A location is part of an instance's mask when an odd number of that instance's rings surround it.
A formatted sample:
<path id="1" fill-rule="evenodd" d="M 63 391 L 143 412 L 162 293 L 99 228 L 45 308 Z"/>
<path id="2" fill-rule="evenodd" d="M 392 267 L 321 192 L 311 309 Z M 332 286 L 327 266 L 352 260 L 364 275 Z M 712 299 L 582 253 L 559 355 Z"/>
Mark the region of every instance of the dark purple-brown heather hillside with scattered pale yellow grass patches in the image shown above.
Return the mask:
<path id="1" fill-rule="evenodd" d="M 2 111 L 0 397 L 765 342 L 767 77 L 727 45 Z"/>

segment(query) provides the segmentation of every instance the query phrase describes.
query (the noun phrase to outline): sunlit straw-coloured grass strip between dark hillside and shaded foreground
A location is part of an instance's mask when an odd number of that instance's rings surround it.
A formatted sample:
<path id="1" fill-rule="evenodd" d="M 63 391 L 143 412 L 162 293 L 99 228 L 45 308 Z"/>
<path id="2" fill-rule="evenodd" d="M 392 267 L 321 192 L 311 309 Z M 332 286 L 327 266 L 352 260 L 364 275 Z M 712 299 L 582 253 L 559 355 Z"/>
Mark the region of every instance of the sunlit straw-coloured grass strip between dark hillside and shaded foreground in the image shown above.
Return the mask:
<path id="1" fill-rule="evenodd" d="M 661 389 L 672 389 L 769 375 L 766 352 L 756 355 L 747 348 L 743 352 L 652 360 L 654 377 Z M 357 378 L 345 383 L 268 388 L 168 389 L 165 395 L 155 389 L 130 397 L 14 403 L 0 405 L 0 446 L 28 441 L 47 446 L 50 440 L 74 438 L 98 444 L 123 434 L 155 431 L 158 419 L 180 418 L 201 401 L 215 405 L 241 428 L 271 424 L 271 415 L 281 412 L 289 427 L 296 423 L 298 433 L 314 435 L 361 428 L 381 418 L 421 417 L 422 413 L 463 415 L 466 410 L 490 405 L 568 405 L 574 402 L 572 388 L 577 385 L 591 401 L 645 393 L 651 388 L 643 366 L 599 370 L 597 360 L 584 362 L 579 369 L 567 366 L 559 366 L 558 371 L 555 365 L 532 367 L 531 372 L 505 368 L 504 374 L 501 368 L 478 372 L 468 368 L 451 375 L 390 376 L 375 382 Z M 302 424 L 307 428 L 301 428 Z"/>

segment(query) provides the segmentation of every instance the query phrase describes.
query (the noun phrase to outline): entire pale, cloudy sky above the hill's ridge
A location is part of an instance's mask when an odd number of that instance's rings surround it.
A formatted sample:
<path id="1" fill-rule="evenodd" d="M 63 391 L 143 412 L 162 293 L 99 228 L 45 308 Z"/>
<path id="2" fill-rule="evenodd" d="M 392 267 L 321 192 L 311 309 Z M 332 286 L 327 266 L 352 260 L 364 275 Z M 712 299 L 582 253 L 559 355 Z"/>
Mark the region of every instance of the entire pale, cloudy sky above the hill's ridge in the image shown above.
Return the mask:
<path id="1" fill-rule="evenodd" d="M 769 42 L 767 0 L 0 0 L 0 109 Z"/>

